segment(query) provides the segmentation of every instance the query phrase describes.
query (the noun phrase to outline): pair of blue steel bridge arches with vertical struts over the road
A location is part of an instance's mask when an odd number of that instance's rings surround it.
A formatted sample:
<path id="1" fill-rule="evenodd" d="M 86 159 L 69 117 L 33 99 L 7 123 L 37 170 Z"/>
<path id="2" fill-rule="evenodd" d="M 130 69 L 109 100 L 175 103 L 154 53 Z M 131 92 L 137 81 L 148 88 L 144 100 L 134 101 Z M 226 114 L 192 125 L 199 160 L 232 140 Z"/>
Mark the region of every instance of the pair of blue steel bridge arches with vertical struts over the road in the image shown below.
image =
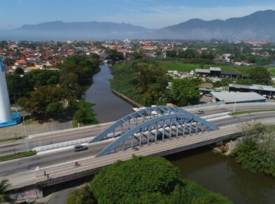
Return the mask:
<path id="1" fill-rule="evenodd" d="M 119 119 L 100 133 L 90 143 L 108 138 L 114 141 L 96 156 L 119 150 L 139 148 L 151 143 L 165 142 L 173 138 L 195 136 L 218 127 L 182 108 L 156 106 L 138 110 Z"/>

